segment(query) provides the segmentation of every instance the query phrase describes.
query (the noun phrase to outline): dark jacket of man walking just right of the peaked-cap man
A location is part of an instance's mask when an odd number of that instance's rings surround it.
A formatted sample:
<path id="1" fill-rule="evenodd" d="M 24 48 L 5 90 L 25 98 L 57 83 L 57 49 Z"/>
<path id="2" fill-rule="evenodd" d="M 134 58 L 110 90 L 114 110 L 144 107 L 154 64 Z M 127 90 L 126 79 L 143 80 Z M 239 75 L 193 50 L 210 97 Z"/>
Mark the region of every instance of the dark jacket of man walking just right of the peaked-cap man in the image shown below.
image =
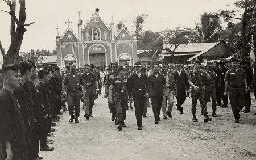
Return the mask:
<path id="1" fill-rule="evenodd" d="M 166 78 L 163 74 L 158 73 L 156 77 L 155 73 L 148 77 L 148 82 L 150 84 L 150 96 L 163 96 L 163 85 L 166 84 Z"/>

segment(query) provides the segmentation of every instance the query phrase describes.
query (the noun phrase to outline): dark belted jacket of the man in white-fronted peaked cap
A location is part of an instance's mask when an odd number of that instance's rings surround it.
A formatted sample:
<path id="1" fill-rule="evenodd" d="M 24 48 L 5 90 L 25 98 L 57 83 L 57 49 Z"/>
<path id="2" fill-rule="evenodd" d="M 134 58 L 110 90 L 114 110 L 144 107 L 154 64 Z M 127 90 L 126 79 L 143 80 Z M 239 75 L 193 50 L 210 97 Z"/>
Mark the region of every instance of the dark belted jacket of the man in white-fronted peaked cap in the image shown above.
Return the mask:
<path id="1" fill-rule="evenodd" d="M 138 77 L 134 73 L 128 77 L 127 90 L 129 98 L 131 98 L 131 93 L 133 93 L 133 96 L 144 96 L 146 94 L 145 89 L 147 89 L 146 91 L 149 94 L 150 83 L 146 74 L 141 74 L 141 77 Z"/>

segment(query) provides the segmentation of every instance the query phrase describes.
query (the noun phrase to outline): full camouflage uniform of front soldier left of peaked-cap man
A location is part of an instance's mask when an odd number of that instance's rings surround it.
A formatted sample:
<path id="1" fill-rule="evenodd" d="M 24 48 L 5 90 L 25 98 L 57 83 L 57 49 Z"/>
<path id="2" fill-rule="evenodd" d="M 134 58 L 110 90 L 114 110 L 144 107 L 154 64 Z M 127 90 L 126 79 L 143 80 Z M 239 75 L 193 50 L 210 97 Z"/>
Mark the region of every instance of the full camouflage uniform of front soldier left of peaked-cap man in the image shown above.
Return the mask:
<path id="1" fill-rule="evenodd" d="M 122 123 L 126 119 L 126 105 L 128 102 L 127 94 L 127 77 L 123 79 L 117 75 L 110 82 L 110 87 L 113 86 L 114 91 L 114 106 L 116 110 L 117 122 Z"/>

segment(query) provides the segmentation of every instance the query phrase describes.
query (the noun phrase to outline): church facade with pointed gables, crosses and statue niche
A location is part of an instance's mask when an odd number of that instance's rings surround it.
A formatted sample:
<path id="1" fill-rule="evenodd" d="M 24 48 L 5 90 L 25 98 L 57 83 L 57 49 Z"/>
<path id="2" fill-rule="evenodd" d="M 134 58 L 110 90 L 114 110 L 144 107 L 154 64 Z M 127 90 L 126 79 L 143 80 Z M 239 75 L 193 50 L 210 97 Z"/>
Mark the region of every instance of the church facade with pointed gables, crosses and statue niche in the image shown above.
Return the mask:
<path id="1" fill-rule="evenodd" d="M 59 36 L 57 27 L 58 66 L 67 66 L 69 61 L 76 63 L 79 68 L 85 64 L 101 66 L 118 62 L 119 65 L 123 65 L 129 61 L 130 65 L 134 65 L 137 62 L 137 35 L 135 32 L 131 35 L 125 27 L 115 31 L 113 15 L 110 28 L 98 14 L 97 9 L 83 27 L 79 16 L 78 36 L 69 28 L 69 20 L 67 23 L 68 28 L 62 36 Z"/>

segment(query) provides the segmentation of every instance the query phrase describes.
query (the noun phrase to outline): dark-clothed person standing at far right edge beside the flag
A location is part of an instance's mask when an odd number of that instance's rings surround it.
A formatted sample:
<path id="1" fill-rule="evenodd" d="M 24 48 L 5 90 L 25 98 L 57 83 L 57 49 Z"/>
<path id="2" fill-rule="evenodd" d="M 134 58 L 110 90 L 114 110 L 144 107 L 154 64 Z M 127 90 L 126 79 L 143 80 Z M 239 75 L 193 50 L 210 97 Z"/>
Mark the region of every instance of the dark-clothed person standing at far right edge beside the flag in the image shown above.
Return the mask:
<path id="1" fill-rule="evenodd" d="M 245 94 L 245 110 L 242 112 L 249 113 L 251 112 L 251 94 L 250 94 L 250 87 L 251 82 L 253 81 L 253 69 L 250 68 L 250 63 L 246 60 L 242 61 L 242 69 L 245 71 L 245 74 L 247 76 L 246 82 L 248 86 L 248 92 Z"/>

